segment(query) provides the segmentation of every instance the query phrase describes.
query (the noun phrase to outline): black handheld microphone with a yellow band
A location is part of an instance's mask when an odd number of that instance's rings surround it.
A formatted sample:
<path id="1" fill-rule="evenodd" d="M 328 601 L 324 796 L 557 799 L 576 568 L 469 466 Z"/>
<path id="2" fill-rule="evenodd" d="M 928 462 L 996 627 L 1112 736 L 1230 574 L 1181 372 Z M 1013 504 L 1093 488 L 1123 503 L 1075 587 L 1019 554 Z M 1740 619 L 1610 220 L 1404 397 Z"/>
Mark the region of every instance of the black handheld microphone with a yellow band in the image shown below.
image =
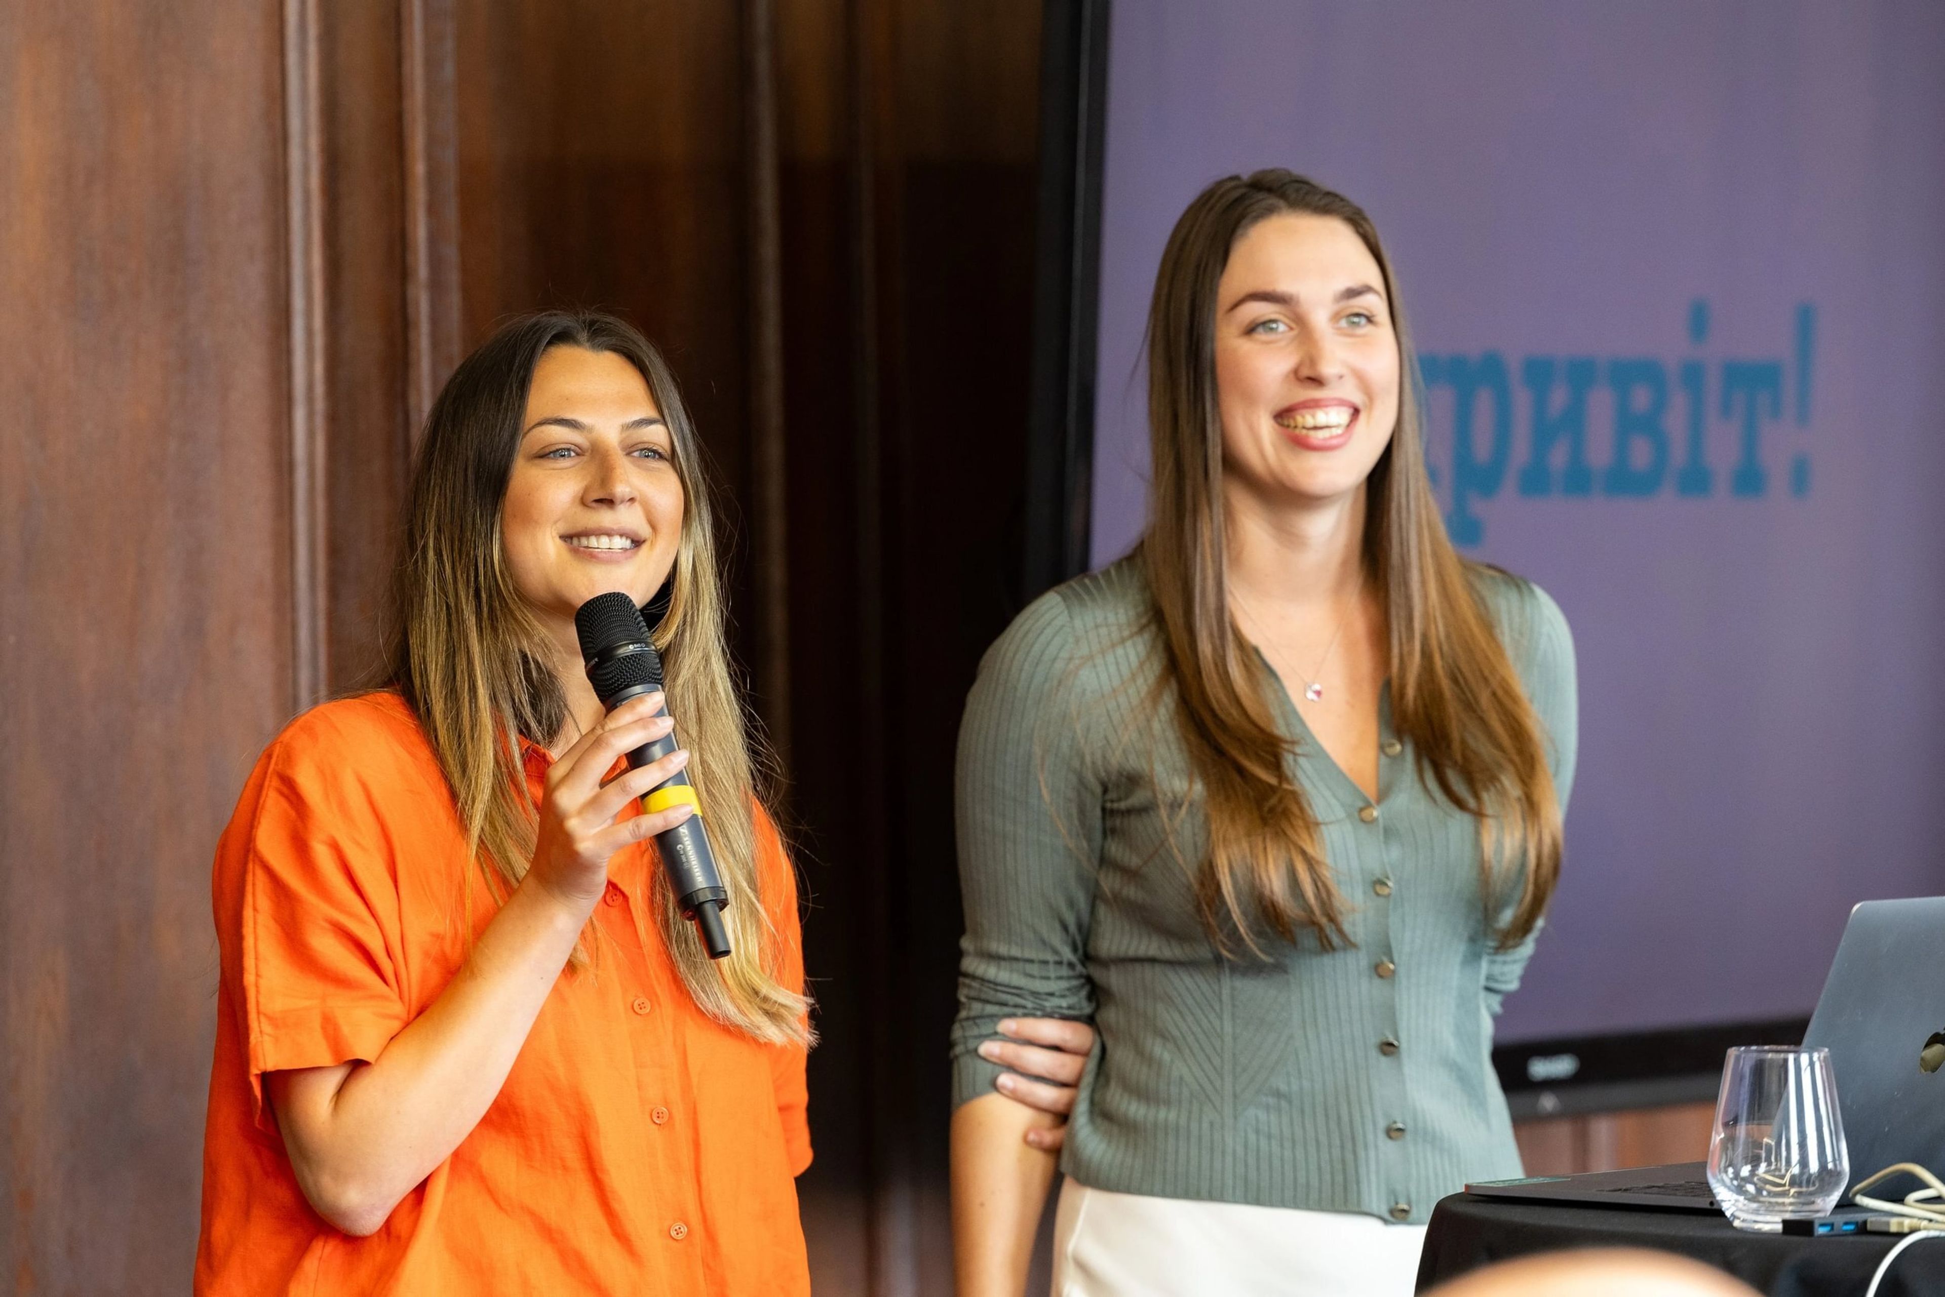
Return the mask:
<path id="1" fill-rule="evenodd" d="M 648 642 L 648 622 L 634 599 L 622 593 L 595 595 L 574 613 L 574 632 L 582 640 L 582 657 L 587 663 L 587 683 L 595 686 L 601 706 L 613 712 L 638 694 L 652 694 L 661 688 L 661 653 Z M 667 716 L 667 708 L 655 712 Z M 675 731 L 661 735 L 654 743 L 628 753 L 628 766 L 640 770 L 652 760 L 661 760 L 677 747 Z M 702 803 L 689 784 L 687 772 L 657 784 L 642 797 L 648 813 L 667 811 L 677 805 L 690 805 L 694 813 L 675 828 L 655 834 L 661 852 L 661 869 L 669 875 L 669 891 L 683 918 L 692 918 L 702 935 L 702 947 L 710 959 L 729 953 L 729 933 L 724 929 L 722 912 L 729 904 L 722 875 L 716 871 L 716 854 L 710 850 L 710 834 L 702 828 Z"/>

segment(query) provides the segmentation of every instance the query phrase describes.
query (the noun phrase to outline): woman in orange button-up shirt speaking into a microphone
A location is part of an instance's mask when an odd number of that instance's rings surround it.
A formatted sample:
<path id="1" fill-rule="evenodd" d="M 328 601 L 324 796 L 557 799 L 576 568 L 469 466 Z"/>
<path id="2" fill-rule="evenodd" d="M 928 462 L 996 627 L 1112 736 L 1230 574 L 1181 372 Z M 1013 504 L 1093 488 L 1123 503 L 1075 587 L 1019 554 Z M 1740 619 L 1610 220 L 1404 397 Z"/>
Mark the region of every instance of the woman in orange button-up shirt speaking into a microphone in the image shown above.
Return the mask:
<path id="1" fill-rule="evenodd" d="M 669 721 L 587 683 L 574 611 L 605 591 L 655 601 L 689 743 L 634 772 Z M 218 846 L 196 1291 L 807 1293 L 796 889 L 694 430 L 634 329 L 531 315 L 453 373 L 389 671 L 278 735 Z M 720 963 L 648 842 L 690 809 L 638 809 L 685 766 Z"/>

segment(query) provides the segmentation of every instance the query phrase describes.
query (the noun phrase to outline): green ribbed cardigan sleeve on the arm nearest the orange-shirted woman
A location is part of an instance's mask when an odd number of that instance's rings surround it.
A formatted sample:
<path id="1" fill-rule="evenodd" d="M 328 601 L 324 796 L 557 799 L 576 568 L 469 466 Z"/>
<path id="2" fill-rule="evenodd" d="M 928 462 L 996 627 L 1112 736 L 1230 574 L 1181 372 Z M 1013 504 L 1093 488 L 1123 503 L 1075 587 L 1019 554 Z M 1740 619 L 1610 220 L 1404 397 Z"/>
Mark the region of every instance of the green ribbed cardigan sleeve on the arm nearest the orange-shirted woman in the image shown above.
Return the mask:
<path id="1" fill-rule="evenodd" d="M 1087 760 L 1085 661 L 1058 591 L 980 663 L 959 729 L 959 889 L 967 931 L 953 1025 L 953 1106 L 992 1093 L 978 1056 L 1006 1017 L 1091 1019 L 1087 928 L 1101 788 Z"/>

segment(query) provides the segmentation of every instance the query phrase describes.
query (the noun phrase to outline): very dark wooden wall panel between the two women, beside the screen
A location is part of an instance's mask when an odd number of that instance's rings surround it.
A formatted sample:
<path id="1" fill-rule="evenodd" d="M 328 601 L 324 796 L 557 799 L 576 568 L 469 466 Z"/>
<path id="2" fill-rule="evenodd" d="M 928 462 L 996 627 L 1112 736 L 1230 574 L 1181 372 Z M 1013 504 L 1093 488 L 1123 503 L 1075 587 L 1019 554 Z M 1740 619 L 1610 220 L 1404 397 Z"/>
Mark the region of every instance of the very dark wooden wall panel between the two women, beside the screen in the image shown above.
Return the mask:
<path id="1" fill-rule="evenodd" d="M 792 776 L 827 978 L 805 1225 L 834 1291 L 949 1291 L 953 751 L 1017 611 L 1039 4 L 788 0 L 778 31 Z"/>

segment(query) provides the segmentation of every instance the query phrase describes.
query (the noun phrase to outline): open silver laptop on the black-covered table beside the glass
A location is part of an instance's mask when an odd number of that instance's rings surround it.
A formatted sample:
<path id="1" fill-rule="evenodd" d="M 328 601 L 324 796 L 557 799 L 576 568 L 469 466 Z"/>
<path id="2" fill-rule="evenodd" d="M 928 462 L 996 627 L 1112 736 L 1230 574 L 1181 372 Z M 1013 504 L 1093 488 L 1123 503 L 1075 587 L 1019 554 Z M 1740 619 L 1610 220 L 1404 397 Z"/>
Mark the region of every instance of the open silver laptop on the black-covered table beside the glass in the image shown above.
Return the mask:
<path id="1" fill-rule="evenodd" d="M 1945 896 L 1865 900 L 1844 926 L 1803 1044 L 1830 1050 L 1852 1186 L 1891 1163 L 1945 1173 L 1941 955 Z M 1486 1198 L 1719 1211 L 1706 1163 L 1484 1180 L 1465 1188 Z"/>

